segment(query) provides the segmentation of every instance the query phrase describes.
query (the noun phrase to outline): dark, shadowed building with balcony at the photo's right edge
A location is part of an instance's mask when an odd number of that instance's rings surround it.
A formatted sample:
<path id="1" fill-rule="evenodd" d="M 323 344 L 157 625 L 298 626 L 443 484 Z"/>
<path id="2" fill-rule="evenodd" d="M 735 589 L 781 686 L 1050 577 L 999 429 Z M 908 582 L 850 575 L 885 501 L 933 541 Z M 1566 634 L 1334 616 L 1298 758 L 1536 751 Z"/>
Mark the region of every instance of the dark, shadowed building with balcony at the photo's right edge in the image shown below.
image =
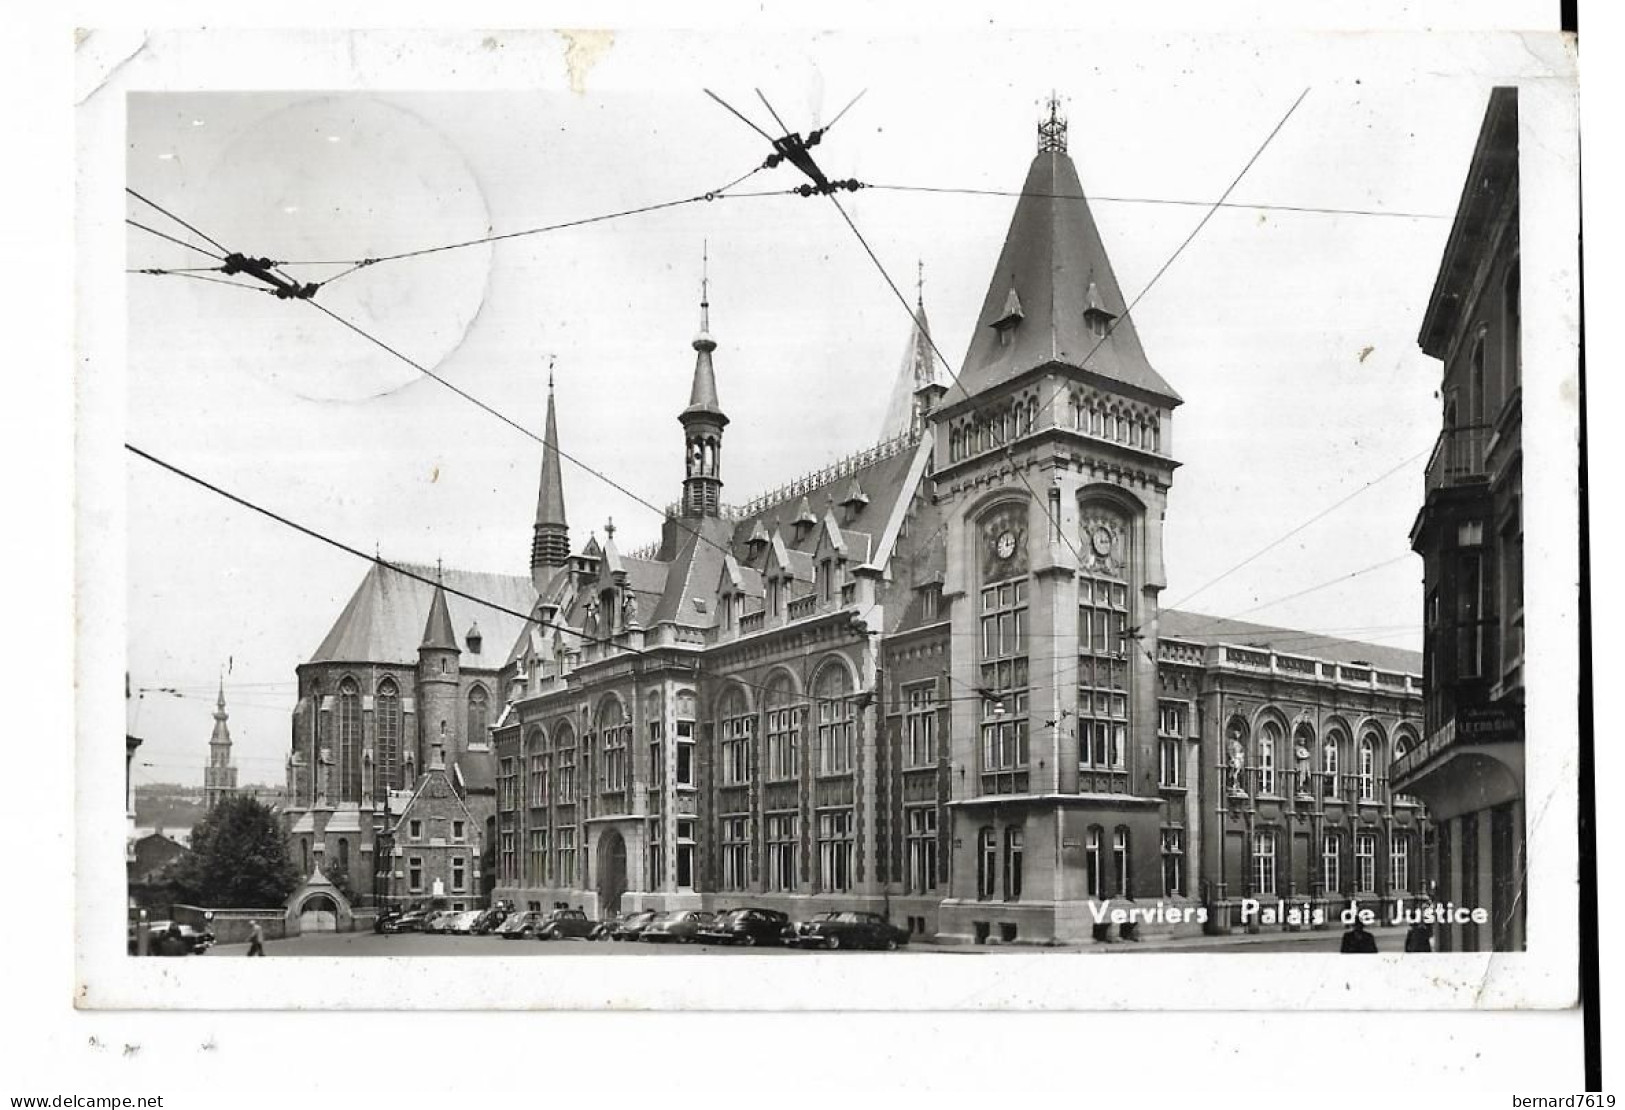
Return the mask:
<path id="1" fill-rule="evenodd" d="M 1410 530 L 1425 583 L 1425 733 L 1396 749 L 1389 774 L 1435 821 L 1436 899 L 1488 912 L 1482 925 L 1445 930 L 1440 947 L 1519 951 L 1528 814 L 1514 88 L 1490 94 L 1417 341 L 1443 364 L 1443 427 Z"/>

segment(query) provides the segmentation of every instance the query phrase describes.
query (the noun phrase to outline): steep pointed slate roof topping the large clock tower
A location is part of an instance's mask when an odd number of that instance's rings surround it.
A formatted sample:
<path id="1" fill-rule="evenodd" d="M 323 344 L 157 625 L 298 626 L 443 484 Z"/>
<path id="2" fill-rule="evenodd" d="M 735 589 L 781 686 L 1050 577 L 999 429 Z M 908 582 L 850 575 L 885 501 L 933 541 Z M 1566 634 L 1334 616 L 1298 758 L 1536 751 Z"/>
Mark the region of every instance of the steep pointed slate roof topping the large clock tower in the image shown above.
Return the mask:
<path id="1" fill-rule="evenodd" d="M 1108 338 L 1089 332 L 1084 314 L 1090 307 L 1118 317 Z M 1180 403 L 1173 387 L 1152 369 L 1134 320 L 1124 314 L 1123 291 L 1077 167 L 1061 150 L 1040 151 L 1016 202 L 959 384 L 949 387 L 944 405 L 1046 362 L 1092 371 Z"/>

